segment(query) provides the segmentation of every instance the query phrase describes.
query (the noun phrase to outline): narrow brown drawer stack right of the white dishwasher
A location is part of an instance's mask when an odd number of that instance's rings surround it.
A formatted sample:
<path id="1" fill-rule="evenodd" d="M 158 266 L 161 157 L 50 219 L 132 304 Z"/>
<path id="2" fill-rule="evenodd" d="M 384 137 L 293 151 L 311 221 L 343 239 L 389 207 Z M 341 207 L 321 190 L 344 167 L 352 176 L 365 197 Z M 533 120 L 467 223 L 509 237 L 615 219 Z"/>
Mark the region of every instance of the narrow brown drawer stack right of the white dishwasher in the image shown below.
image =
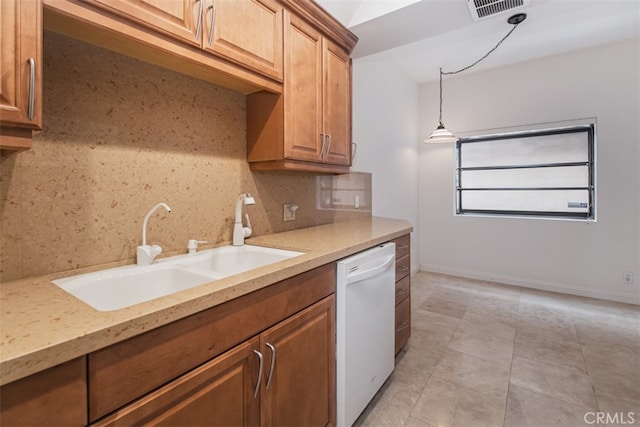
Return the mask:
<path id="1" fill-rule="evenodd" d="M 396 244 L 396 354 L 411 336 L 411 240 L 410 235 L 393 240 Z"/>

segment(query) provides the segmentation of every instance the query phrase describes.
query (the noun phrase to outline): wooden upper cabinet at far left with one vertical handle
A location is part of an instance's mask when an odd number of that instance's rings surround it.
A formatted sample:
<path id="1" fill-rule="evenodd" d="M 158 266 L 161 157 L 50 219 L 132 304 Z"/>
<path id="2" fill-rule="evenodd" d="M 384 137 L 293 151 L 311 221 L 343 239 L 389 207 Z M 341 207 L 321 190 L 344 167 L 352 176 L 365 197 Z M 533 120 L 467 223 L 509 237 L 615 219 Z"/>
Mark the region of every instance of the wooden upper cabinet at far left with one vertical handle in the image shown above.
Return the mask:
<path id="1" fill-rule="evenodd" d="M 0 1 L 0 149 L 31 147 L 42 126 L 42 1 Z"/>

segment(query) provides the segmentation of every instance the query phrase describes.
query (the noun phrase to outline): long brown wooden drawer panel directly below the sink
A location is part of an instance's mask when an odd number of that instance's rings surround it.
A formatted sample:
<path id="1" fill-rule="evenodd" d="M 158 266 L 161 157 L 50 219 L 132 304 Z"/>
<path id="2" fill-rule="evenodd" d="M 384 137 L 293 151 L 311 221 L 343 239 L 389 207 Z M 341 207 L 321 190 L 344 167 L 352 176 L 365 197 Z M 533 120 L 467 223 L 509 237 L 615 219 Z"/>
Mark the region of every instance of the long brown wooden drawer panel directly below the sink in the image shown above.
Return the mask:
<path id="1" fill-rule="evenodd" d="M 89 355 L 91 421 L 335 292 L 327 264 Z"/>

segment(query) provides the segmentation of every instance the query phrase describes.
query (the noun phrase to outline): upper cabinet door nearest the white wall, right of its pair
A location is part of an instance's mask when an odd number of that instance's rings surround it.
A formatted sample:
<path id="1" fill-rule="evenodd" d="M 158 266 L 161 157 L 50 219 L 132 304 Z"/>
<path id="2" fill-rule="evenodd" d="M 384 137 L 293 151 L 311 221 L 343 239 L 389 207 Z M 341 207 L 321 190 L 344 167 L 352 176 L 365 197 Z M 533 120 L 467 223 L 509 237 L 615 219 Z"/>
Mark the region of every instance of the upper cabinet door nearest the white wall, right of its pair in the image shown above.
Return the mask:
<path id="1" fill-rule="evenodd" d="M 334 165 L 351 165 L 351 59 L 325 39 L 323 129 L 327 134 L 324 159 Z"/>

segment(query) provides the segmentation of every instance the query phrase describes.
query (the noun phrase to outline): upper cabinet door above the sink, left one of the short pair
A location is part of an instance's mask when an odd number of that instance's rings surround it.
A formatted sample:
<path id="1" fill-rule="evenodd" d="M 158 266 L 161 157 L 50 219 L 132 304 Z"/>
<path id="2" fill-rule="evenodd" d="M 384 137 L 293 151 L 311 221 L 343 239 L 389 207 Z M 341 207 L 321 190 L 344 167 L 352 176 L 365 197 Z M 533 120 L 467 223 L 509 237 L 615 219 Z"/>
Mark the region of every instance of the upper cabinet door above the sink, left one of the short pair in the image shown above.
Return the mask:
<path id="1" fill-rule="evenodd" d="M 201 22 L 206 0 L 85 1 L 168 36 L 201 46 Z"/>

